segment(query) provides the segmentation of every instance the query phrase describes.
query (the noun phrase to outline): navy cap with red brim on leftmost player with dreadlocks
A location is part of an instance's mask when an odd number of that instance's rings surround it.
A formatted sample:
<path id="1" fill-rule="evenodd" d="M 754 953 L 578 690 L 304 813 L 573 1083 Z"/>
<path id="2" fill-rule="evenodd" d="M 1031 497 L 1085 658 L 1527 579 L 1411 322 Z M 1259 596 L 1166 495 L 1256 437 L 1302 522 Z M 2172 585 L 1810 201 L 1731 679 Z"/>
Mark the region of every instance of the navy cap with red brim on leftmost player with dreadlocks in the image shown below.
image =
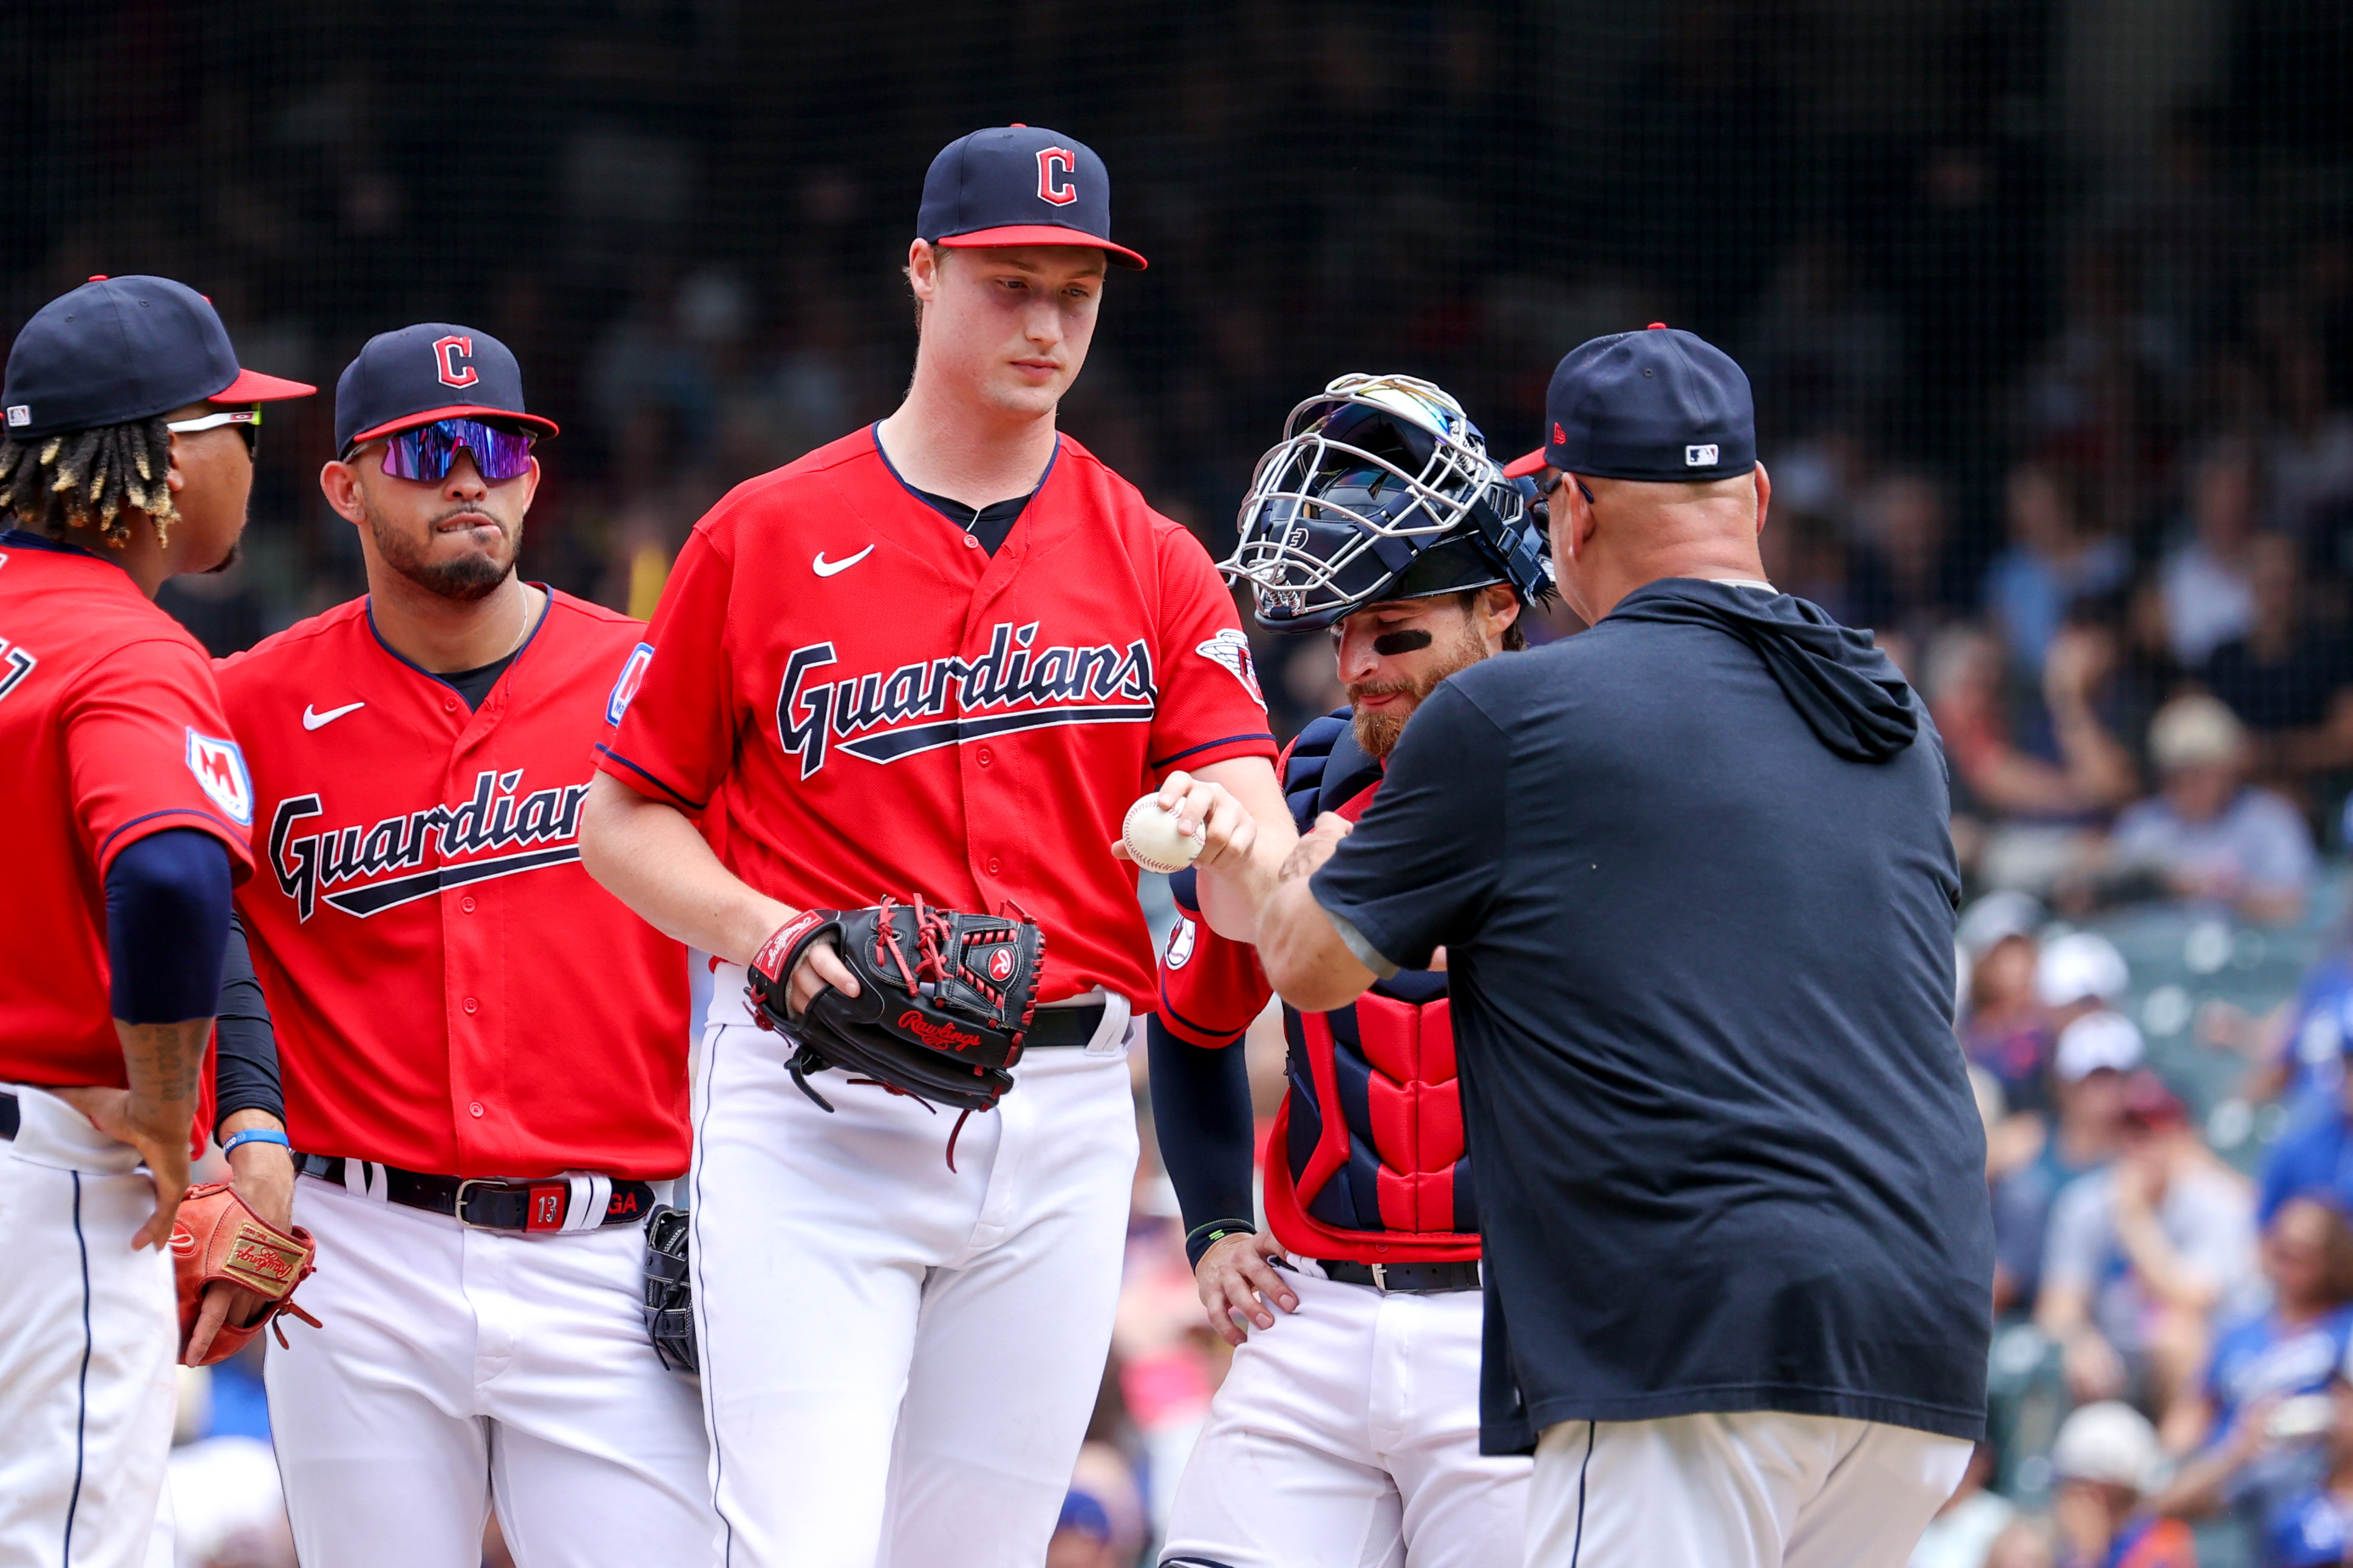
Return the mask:
<path id="1" fill-rule="evenodd" d="M 33 313 L 7 355 L 0 433 L 38 440 L 191 402 L 275 402 L 315 386 L 238 367 L 212 301 L 169 277 L 92 277 Z"/>

